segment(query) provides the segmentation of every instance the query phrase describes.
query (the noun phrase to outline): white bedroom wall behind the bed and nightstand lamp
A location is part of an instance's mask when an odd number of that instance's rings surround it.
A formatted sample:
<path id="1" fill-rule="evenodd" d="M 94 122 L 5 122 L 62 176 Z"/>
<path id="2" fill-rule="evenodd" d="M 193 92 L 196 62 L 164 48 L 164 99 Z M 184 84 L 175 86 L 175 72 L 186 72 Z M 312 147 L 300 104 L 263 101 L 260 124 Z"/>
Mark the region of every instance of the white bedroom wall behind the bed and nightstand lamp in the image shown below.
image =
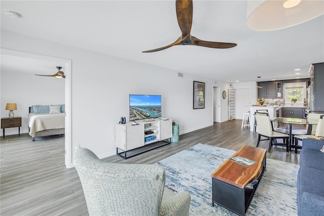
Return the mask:
<path id="1" fill-rule="evenodd" d="M 18 63 L 18 62 L 17 62 Z M 8 118 L 8 102 L 17 103 L 15 117 L 21 116 L 20 133 L 28 133 L 28 107 L 31 105 L 64 104 L 64 79 L 39 77 L 22 71 L 1 68 L 1 117 Z M 6 128 L 5 134 L 17 134 L 18 128 Z"/>

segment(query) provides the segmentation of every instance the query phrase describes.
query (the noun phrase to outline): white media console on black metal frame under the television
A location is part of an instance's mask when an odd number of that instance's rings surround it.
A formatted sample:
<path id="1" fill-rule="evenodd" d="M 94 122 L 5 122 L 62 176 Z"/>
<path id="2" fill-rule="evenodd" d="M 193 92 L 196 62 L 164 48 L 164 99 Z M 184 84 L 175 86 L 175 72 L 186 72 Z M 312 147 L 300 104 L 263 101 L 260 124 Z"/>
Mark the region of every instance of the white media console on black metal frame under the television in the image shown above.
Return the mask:
<path id="1" fill-rule="evenodd" d="M 170 142 L 164 141 L 164 145 L 156 145 L 156 148 L 141 151 L 150 144 L 155 145 L 160 141 L 172 137 L 172 119 L 151 119 L 138 121 L 137 124 L 116 124 L 116 154 L 124 159 L 142 154 L 144 152 L 165 146 Z M 119 153 L 118 150 L 121 150 Z M 132 152 L 131 152 L 132 151 Z M 131 155 L 127 157 L 127 153 Z M 124 155 L 124 156 L 123 156 Z"/>

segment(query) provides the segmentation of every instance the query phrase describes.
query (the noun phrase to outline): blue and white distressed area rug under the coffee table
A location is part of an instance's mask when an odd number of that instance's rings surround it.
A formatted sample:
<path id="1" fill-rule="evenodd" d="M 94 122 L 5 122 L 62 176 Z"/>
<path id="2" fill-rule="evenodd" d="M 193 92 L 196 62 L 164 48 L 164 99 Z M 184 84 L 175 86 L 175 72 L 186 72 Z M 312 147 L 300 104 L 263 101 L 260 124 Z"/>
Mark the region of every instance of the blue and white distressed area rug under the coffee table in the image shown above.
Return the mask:
<path id="1" fill-rule="evenodd" d="M 236 215 L 212 206 L 211 174 L 235 151 L 197 144 L 155 164 L 166 170 L 166 187 L 191 195 L 190 215 Z M 297 215 L 299 165 L 267 158 L 267 167 L 246 215 Z"/>

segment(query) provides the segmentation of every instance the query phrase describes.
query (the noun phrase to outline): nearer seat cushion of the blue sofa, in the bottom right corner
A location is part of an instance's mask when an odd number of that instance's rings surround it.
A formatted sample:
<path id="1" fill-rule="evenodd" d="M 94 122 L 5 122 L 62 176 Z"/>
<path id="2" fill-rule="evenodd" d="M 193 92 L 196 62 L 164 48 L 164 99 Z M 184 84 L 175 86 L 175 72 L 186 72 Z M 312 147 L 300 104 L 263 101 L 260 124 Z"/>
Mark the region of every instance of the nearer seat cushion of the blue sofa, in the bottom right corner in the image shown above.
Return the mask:
<path id="1" fill-rule="evenodd" d="M 324 172 L 300 167 L 297 177 L 298 215 L 322 215 L 324 211 Z"/>

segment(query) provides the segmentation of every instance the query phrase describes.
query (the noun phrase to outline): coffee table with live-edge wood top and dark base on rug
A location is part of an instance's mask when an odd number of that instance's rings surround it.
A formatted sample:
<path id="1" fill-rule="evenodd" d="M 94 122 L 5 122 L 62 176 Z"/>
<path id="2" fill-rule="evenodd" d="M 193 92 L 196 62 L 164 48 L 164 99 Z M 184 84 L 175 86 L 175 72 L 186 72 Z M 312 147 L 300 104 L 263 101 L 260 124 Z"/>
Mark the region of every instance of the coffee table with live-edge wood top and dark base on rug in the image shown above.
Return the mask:
<path id="1" fill-rule="evenodd" d="M 244 166 L 226 160 L 212 173 L 212 205 L 217 203 L 238 215 L 245 215 L 266 169 L 266 149 L 242 146 L 231 158 L 241 156 L 257 163 Z M 258 179 L 253 189 L 246 186 Z"/>

